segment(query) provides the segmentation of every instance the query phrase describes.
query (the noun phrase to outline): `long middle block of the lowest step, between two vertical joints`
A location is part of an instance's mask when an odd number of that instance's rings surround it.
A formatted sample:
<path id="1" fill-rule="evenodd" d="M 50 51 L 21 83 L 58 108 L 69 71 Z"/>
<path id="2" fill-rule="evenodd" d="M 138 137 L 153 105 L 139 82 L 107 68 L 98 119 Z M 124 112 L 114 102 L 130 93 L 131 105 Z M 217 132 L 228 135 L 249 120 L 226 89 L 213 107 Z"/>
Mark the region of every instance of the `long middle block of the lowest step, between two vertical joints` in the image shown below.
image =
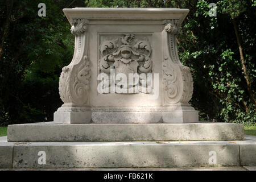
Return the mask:
<path id="1" fill-rule="evenodd" d="M 46 164 L 38 164 L 46 151 Z M 65 152 L 64 152 L 65 151 Z M 14 168 L 199 167 L 216 151 L 218 166 L 240 166 L 239 146 L 218 143 L 41 142 L 14 146 Z M 217 166 L 217 165 L 216 165 Z"/>

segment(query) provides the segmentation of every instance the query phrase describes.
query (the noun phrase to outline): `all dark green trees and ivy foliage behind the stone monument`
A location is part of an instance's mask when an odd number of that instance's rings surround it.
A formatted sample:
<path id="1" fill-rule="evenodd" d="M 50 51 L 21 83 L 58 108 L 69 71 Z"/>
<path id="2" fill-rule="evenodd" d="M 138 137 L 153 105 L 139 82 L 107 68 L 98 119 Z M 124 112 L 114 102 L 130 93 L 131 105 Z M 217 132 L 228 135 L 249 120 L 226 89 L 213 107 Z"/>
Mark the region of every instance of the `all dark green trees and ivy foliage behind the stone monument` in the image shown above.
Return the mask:
<path id="1" fill-rule="evenodd" d="M 40 2 L 0 2 L 0 125 L 49 121 L 61 105 L 59 75 L 74 43 L 64 7 L 189 9 L 177 44 L 193 76 L 190 103 L 203 121 L 255 123 L 255 0 L 47 0 L 46 17 L 38 16 Z"/>

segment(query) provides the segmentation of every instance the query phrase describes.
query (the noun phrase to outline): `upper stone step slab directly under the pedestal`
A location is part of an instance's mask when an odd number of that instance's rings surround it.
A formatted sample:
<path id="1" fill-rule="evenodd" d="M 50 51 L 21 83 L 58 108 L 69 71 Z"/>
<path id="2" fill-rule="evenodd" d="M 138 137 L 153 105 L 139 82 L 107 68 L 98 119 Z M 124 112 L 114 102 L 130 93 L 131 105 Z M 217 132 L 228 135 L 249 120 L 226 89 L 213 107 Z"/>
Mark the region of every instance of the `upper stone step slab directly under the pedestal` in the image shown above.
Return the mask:
<path id="1" fill-rule="evenodd" d="M 8 126 L 9 142 L 243 140 L 234 123 L 29 123 Z"/>

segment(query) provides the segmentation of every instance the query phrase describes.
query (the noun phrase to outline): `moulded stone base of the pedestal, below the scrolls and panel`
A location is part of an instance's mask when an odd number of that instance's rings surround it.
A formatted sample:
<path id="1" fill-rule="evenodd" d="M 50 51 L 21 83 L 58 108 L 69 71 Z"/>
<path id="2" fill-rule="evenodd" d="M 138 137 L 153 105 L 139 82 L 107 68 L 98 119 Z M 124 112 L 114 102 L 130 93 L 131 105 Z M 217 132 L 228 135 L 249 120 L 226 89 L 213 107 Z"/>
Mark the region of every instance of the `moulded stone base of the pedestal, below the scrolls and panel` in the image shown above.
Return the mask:
<path id="1" fill-rule="evenodd" d="M 161 107 L 68 107 L 55 113 L 55 123 L 197 123 L 198 111 L 188 104 Z"/>

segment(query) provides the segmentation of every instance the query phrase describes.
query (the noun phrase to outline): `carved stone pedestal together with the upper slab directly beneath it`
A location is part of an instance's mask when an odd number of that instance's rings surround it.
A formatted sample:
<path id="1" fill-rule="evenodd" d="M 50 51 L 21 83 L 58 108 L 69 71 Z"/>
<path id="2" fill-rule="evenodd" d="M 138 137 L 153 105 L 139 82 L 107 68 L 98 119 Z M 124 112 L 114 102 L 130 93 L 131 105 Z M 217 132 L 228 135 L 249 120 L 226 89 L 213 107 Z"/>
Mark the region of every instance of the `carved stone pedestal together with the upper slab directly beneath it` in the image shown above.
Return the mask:
<path id="1" fill-rule="evenodd" d="M 188 9 L 63 11 L 75 35 L 73 59 L 60 74 L 64 104 L 53 122 L 10 126 L 10 141 L 243 138 L 240 125 L 199 123 L 188 104 L 193 81 L 176 44 Z"/>

